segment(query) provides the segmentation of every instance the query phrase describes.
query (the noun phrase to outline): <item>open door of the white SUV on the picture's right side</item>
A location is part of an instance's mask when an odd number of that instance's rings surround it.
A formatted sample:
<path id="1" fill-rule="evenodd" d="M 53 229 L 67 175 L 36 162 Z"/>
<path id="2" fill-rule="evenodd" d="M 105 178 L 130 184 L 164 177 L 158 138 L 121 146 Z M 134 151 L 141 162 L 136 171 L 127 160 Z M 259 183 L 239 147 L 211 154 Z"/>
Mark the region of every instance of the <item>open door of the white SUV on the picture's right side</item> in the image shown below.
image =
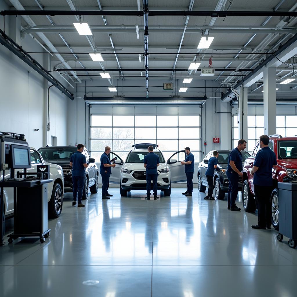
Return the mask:
<path id="1" fill-rule="evenodd" d="M 182 161 L 186 160 L 186 151 L 177 151 L 167 161 L 167 166 L 170 170 L 171 183 L 187 181 L 185 166 L 181 165 Z"/>

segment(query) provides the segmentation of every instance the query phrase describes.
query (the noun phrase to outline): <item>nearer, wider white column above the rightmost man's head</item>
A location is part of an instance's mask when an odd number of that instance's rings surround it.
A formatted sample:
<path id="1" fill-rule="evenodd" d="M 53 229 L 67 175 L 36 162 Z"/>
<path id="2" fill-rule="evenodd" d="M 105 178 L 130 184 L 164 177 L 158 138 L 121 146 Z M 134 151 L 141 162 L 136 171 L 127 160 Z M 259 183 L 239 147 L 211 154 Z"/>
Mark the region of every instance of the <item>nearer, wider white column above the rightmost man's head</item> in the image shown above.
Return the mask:
<path id="1" fill-rule="evenodd" d="M 277 95 L 276 95 L 276 68 L 264 69 L 264 134 L 276 134 L 277 125 Z"/>

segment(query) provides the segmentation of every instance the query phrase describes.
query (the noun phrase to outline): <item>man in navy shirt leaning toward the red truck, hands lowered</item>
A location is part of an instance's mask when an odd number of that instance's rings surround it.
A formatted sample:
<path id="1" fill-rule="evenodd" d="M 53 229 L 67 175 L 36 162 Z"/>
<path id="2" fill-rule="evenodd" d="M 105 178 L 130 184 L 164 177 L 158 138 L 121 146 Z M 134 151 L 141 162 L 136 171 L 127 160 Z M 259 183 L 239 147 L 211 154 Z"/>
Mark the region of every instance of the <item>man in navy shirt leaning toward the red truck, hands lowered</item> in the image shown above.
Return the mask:
<path id="1" fill-rule="evenodd" d="M 242 177 L 241 151 L 243 151 L 246 147 L 247 142 L 244 139 L 239 139 L 237 147 L 230 152 L 228 159 L 228 167 L 226 171 L 229 178 L 228 209 L 233 211 L 241 211 L 241 208 L 236 206 L 235 200 L 238 194 L 238 177 Z"/>

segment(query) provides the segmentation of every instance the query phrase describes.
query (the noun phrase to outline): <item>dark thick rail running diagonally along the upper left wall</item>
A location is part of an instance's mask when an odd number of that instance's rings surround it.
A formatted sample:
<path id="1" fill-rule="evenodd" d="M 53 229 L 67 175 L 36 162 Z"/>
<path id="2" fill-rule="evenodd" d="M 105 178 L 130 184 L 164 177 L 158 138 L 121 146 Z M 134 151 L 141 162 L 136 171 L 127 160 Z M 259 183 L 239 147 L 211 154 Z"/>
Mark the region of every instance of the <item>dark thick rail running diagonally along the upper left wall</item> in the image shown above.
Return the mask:
<path id="1" fill-rule="evenodd" d="M 12 53 L 18 56 L 26 64 L 28 64 L 32 69 L 37 71 L 46 80 L 55 85 L 62 93 L 64 93 L 71 100 L 74 100 L 73 94 L 68 91 L 56 78 L 53 77 L 45 68 L 42 67 L 33 57 L 31 57 L 22 47 L 20 47 L 16 42 L 14 42 L 9 36 L 7 36 L 0 29 L 0 43 L 9 49 Z M 69 70 L 69 69 L 68 69 Z"/>

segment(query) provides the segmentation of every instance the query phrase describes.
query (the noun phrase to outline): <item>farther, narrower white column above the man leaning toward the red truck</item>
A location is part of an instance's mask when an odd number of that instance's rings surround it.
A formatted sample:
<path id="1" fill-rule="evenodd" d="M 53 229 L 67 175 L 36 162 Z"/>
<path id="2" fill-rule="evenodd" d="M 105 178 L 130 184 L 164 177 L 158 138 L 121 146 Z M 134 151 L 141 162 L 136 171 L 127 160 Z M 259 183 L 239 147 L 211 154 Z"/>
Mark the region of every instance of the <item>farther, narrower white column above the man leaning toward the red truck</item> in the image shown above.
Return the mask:
<path id="1" fill-rule="evenodd" d="M 238 137 L 247 141 L 247 88 L 239 88 L 238 91 Z"/>

